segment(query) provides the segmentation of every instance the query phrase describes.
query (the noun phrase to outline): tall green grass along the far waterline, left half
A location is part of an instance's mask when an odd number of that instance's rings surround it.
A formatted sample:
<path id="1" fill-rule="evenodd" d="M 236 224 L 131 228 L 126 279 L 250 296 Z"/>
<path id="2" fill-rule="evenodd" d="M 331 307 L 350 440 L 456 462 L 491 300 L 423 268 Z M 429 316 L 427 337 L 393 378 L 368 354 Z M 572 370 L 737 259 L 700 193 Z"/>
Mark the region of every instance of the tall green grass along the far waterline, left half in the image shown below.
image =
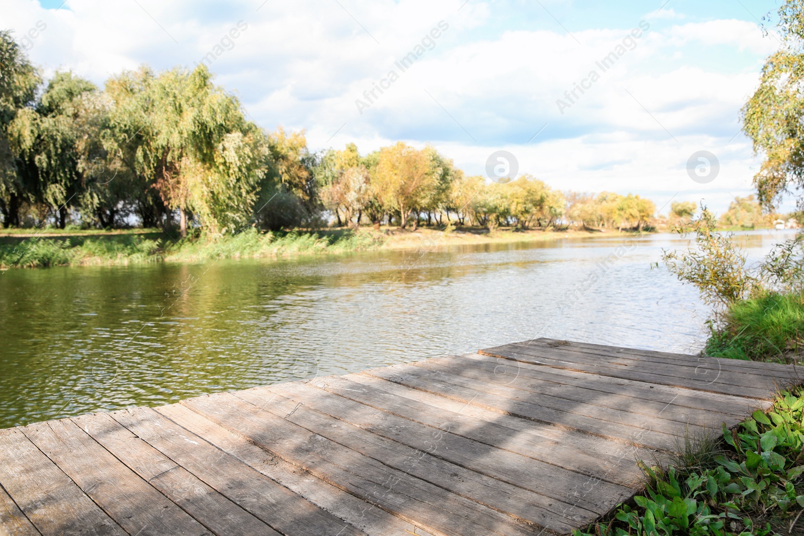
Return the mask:
<path id="1" fill-rule="evenodd" d="M 173 241 L 162 235 L 32 237 L 0 243 L 0 267 L 44 268 L 74 264 L 129 264 L 154 261 L 203 260 L 354 252 L 379 248 L 383 239 L 371 232 L 350 230 L 269 232 L 248 229 L 236 235 Z"/>

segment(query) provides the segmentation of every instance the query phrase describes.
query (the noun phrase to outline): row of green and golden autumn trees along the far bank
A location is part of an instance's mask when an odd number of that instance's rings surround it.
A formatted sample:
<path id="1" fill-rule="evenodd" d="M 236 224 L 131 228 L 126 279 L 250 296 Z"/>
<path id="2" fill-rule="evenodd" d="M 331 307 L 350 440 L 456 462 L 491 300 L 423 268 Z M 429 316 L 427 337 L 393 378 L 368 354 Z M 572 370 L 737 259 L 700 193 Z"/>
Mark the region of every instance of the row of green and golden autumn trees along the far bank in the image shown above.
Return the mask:
<path id="1" fill-rule="evenodd" d="M 4 227 L 642 228 L 655 211 L 638 195 L 562 193 L 527 174 L 490 183 L 432 146 L 314 152 L 304 132 L 250 121 L 203 64 L 143 66 L 104 88 L 69 71 L 45 82 L 10 31 L 0 31 L 0 63 Z"/>

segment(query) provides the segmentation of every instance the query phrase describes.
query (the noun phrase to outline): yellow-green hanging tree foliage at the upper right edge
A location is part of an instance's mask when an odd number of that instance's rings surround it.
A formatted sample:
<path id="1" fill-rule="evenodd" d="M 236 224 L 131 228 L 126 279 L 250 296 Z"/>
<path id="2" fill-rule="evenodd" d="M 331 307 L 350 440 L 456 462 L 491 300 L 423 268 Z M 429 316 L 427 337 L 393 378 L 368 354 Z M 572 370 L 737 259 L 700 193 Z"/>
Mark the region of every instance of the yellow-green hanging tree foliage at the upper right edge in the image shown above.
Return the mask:
<path id="1" fill-rule="evenodd" d="M 742 109 L 743 130 L 764 156 L 754 175 L 760 203 L 777 207 L 798 193 L 804 209 L 804 6 L 786 0 L 778 10 L 781 47 L 765 60 L 759 87 Z"/>

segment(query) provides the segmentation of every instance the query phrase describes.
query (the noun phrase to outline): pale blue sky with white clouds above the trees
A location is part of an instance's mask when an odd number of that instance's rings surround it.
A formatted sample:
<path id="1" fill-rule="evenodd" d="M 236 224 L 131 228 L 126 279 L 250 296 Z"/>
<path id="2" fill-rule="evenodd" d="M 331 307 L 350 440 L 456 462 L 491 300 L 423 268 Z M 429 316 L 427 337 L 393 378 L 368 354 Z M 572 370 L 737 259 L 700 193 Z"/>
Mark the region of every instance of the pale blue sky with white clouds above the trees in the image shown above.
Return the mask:
<path id="1" fill-rule="evenodd" d="M 203 61 L 253 121 L 304 129 L 313 150 L 430 144 L 467 174 L 486 174 L 490 155 L 507 150 L 520 174 L 560 190 L 639 194 L 662 213 L 704 200 L 722 212 L 752 193 L 761 163 L 740 108 L 779 47 L 777 7 L 3 0 L 0 28 L 45 76 L 71 69 L 99 86 L 143 63 Z"/>

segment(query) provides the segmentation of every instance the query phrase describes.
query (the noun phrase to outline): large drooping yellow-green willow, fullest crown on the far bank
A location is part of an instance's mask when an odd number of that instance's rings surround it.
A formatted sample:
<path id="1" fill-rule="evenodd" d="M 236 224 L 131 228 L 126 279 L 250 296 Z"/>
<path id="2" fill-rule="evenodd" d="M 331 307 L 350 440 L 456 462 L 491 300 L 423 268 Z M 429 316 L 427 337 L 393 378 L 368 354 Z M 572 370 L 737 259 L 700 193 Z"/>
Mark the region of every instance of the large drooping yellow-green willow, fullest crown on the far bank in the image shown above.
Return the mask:
<path id="1" fill-rule="evenodd" d="M 182 236 L 190 214 L 211 234 L 248 222 L 265 171 L 265 134 L 234 96 L 212 84 L 206 67 L 158 75 L 143 68 L 111 81 L 107 91 L 118 109 L 110 149 L 178 211 Z"/>

